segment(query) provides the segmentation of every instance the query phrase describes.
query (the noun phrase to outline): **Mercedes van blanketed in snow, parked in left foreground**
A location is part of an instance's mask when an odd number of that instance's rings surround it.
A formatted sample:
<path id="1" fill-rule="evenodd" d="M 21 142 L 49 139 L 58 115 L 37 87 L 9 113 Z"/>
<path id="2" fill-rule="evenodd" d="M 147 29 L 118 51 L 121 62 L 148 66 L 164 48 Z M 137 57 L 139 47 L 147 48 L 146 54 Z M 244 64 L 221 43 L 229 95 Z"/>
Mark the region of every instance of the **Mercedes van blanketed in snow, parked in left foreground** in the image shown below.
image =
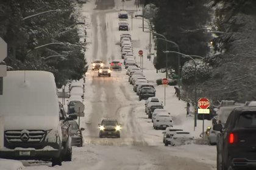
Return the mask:
<path id="1" fill-rule="evenodd" d="M 0 158 L 51 159 L 52 166 L 62 165 L 62 118 L 54 75 L 9 71 L 3 82 L 4 149 Z"/>

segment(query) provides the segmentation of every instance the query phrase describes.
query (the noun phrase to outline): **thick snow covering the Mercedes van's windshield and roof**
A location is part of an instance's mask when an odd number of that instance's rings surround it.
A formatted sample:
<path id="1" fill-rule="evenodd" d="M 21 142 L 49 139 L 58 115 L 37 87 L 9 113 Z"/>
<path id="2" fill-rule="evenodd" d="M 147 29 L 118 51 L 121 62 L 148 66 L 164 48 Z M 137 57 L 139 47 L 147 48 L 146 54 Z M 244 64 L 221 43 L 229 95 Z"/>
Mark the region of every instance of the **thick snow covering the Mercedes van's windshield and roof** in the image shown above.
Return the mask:
<path id="1" fill-rule="evenodd" d="M 3 83 L 0 115 L 48 115 L 59 118 L 59 100 L 52 73 L 9 71 Z"/>

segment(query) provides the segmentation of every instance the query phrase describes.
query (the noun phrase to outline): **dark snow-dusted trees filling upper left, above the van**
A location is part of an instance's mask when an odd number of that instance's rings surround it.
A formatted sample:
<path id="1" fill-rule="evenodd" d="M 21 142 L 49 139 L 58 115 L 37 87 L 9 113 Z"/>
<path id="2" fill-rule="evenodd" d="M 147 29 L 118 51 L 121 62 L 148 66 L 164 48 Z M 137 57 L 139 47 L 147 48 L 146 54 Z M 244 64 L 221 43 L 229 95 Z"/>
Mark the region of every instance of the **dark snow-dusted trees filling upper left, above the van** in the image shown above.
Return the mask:
<path id="1" fill-rule="evenodd" d="M 86 44 L 80 42 L 79 14 L 73 3 L 0 0 L 0 36 L 9 47 L 6 63 L 15 70 L 51 71 L 59 86 L 66 80 L 82 78 L 87 71 L 82 52 Z"/>

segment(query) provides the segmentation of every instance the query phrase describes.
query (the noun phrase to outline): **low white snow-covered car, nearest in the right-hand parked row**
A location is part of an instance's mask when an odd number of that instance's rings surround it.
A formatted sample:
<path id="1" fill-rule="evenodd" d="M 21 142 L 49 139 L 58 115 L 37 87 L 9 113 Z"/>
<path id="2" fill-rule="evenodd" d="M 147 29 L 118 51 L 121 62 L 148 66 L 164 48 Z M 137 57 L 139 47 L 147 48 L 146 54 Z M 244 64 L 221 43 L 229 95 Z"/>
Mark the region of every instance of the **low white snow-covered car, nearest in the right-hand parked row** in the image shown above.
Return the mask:
<path id="1" fill-rule="evenodd" d="M 176 132 L 171 138 L 171 146 L 181 146 L 185 141 L 193 140 L 190 132 Z"/>

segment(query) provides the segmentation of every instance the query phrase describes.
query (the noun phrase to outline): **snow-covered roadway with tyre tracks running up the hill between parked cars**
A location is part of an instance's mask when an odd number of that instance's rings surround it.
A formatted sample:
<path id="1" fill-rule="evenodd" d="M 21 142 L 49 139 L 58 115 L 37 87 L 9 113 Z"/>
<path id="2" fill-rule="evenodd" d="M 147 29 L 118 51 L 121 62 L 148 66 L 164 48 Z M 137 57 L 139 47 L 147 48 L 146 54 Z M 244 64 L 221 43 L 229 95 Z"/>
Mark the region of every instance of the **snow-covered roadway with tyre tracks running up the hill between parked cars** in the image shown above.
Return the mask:
<path id="1" fill-rule="evenodd" d="M 85 146 L 73 148 L 73 161 L 63 162 L 62 166 L 49 167 L 51 163 L 29 163 L 23 161 L 23 167 L 19 162 L 13 162 L 12 168 L 18 169 L 77 169 L 77 170 L 210 170 L 207 163 L 197 162 L 193 159 L 196 153 L 188 153 L 191 156 L 182 157 L 189 150 L 176 147 L 158 146 L 152 141 L 161 143 L 162 133 L 150 134 L 143 130 L 141 117 L 138 112 L 143 112 L 144 103 L 138 101 L 132 88 L 127 82 L 125 69 L 121 72 L 112 72 L 112 77 L 98 77 L 98 71 L 92 71 L 90 63 L 94 59 L 102 59 L 105 63 L 112 60 L 121 61 L 118 31 L 118 10 L 121 0 L 90 0 L 82 6 L 82 14 L 87 18 L 89 29 L 87 30 L 87 42 L 91 42 L 86 52 L 89 65 L 87 83 L 85 87 L 85 118 L 81 120 L 81 127 L 85 127 L 83 133 Z M 126 1 L 126 7 L 131 11 L 135 7 L 134 0 Z M 136 9 L 136 7 L 135 7 Z M 134 32 L 134 30 L 133 30 Z M 141 47 L 148 39 L 140 39 L 140 36 L 132 35 L 135 51 L 144 49 Z M 147 68 L 146 68 L 147 69 Z M 148 73 L 149 75 L 151 72 Z M 146 74 L 145 74 L 146 75 Z M 147 75 L 146 75 L 147 77 Z M 123 124 L 121 138 L 99 138 L 98 123 L 102 118 L 116 118 Z M 152 125 L 151 125 L 152 126 Z M 157 138 L 155 138 L 157 136 Z M 177 154 L 179 151 L 182 154 Z M 214 151 L 214 149 L 213 149 Z M 0 170 L 1 167 L 0 167 Z"/>

